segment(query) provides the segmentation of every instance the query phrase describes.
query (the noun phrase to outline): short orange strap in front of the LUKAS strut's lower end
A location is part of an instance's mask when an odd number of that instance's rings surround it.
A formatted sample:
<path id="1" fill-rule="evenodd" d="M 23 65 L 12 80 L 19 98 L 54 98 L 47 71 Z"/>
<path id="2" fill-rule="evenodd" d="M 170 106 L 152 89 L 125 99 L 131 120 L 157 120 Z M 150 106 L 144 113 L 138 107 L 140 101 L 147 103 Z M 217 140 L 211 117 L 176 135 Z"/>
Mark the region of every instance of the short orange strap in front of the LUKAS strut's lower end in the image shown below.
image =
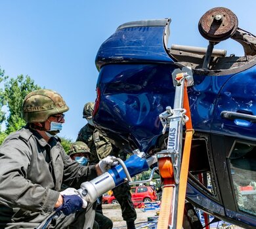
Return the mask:
<path id="1" fill-rule="evenodd" d="M 163 193 L 161 195 L 160 215 L 158 218 L 158 229 L 167 229 L 172 221 L 174 184 L 173 165 L 171 158 L 160 158 L 158 167 L 163 181 Z"/>

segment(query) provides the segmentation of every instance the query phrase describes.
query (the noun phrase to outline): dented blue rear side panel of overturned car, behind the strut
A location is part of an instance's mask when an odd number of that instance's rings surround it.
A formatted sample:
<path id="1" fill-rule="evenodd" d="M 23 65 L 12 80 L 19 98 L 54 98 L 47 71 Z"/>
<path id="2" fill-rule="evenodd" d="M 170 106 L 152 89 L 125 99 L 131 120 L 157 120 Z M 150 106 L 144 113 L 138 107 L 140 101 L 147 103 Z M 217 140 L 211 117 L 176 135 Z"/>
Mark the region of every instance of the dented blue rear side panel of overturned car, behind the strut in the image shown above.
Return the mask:
<path id="1" fill-rule="evenodd" d="M 155 136 L 161 135 L 158 115 L 165 107 L 173 107 L 174 69 L 175 66 L 165 64 L 104 65 L 98 77 L 101 105 L 96 122 L 98 116 L 102 117 L 100 122 L 109 130 L 118 123 L 114 132 L 125 133 L 125 138 L 129 136 L 137 148 L 147 152 L 154 145 Z M 211 130 L 219 91 L 230 77 L 194 75 L 195 85 L 188 88 L 188 95 L 195 130 Z"/>

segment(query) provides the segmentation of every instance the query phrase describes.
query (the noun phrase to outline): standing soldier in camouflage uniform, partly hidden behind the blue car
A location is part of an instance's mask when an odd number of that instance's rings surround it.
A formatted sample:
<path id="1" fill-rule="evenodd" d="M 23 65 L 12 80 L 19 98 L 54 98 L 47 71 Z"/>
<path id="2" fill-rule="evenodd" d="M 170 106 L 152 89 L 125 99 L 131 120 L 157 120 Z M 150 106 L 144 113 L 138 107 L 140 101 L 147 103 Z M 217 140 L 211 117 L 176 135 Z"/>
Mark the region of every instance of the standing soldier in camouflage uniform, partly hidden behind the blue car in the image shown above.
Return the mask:
<path id="1" fill-rule="evenodd" d="M 91 149 L 90 164 L 96 164 L 108 155 L 119 156 L 122 160 L 126 159 L 127 154 L 120 152 L 107 137 L 96 130 L 93 124 L 93 110 L 95 103 L 86 103 L 83 108 L 83 118 L 87 119 L 87 124 L 81 128 L 76 141 L 83 141 Z M 137 214 L 131 201 L 131 187 L 128 183 L 123 183 L 113 189 L 114 196 L 119 202 L 123 220 L 127 222 L 127 228 L 135 228 Z M 100 210 L 100 209 L 99 209 Z"/>

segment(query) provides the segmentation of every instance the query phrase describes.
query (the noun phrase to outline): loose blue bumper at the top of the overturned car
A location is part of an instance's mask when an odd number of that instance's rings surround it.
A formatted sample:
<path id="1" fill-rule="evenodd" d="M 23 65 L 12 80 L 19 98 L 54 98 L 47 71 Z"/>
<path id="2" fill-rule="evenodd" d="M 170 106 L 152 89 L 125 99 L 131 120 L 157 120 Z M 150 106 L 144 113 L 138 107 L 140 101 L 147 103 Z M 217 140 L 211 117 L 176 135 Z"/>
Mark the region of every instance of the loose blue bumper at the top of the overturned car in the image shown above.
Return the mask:
<path id="1" fill-rule="evenodd" d="M 133 22 L 119 26 L 99 48 L 96 55 L 98 69 L 114 62 L 173 62 L 168 56 L 163 36 L 169 33 L 170 19 Z"/>

